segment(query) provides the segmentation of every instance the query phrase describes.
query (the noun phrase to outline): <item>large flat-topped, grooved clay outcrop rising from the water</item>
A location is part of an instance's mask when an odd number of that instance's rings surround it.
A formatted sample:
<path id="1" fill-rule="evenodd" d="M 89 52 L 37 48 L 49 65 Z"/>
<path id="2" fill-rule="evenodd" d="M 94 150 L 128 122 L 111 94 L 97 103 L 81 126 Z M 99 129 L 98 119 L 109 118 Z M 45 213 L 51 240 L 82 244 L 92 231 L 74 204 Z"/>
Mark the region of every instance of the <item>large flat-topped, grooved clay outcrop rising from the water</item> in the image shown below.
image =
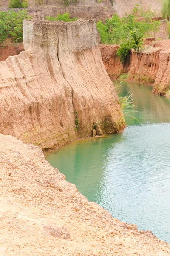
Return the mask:
<path id="1" fill-rule="evenodd" d="M 0 133 L 57 148 L 98 121 L 105 133 L 125 127 L 94 21 L 24 20 L 23 34 L 26 51 L 0 62 Z"/>

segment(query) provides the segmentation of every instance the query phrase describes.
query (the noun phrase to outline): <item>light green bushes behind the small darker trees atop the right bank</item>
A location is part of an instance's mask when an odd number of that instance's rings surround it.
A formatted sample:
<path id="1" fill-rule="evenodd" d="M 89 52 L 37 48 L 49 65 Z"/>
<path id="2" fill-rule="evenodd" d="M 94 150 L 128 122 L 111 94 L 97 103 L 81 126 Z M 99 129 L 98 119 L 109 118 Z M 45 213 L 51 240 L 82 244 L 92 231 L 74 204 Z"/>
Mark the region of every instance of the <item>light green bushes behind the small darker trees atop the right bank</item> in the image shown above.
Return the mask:
<path id="1" fill-rule="evenodd" d="M 139 15 L 143 17 L 143 20 L 137 22 Z M 114 14 L 111 19 L 106 19 L 104 24 L 100 20 L 96 23 L 96 26 L 101 35 L 101 43 L 122 44 L 129 40 L 130 31 L 133 31 L 133 29 L 138 29 L 144 37 L 150 36 L 150 32 L 157 32 L 160 25 L 159 21 L 152 20 L 153 15 L 153 12 L 143 12 L 136 5 L 132 13 L 125 14 L 122 19 Z"/>

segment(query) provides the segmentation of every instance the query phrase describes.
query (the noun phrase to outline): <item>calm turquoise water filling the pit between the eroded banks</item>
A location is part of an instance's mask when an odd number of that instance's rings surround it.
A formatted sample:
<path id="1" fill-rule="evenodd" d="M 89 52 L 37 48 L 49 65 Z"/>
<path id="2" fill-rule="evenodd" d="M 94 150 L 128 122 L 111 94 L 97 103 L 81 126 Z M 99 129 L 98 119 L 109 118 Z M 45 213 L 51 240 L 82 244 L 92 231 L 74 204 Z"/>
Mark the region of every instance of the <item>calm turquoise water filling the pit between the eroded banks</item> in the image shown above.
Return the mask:
<path id="1" fill-rule="evenodd" d="M 113 217 L 170 243 L 170 99 L 122 82 L 119 94 L 128 90 L 135 106 L 122 134 L 78 140 L 47 160 Z"/>

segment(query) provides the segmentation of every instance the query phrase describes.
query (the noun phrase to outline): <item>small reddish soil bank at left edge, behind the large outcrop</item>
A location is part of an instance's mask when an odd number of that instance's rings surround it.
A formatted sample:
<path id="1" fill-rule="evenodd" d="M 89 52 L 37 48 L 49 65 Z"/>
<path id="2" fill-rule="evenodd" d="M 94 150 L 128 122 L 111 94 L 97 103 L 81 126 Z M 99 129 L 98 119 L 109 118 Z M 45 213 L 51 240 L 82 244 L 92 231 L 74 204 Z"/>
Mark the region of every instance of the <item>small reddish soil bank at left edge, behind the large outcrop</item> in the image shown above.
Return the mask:
<path id="1" fill-rule="evenodd" d="M 24 51 L 23 43 L 0 46 L 0 61 L 5 61 L 9 56 L 15 56 Z"/>

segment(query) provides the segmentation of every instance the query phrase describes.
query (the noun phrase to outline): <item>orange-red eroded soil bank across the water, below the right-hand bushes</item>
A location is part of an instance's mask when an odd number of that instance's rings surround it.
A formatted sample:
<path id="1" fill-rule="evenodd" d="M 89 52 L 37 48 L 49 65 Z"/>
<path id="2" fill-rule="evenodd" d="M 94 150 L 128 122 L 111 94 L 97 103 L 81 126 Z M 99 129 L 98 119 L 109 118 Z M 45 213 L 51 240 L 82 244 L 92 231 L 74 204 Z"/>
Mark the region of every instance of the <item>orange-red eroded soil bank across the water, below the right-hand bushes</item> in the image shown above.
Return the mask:
<path id="1" fill-rule="evenodd" d="M 153 85 L 153 93 L 170 96 L 170 40 L 156 41 L 141 52 L 132 51 L 122 66 L 116 57 L 118 45 L 100 45 L 102 60 L 109 76 Z"/>

